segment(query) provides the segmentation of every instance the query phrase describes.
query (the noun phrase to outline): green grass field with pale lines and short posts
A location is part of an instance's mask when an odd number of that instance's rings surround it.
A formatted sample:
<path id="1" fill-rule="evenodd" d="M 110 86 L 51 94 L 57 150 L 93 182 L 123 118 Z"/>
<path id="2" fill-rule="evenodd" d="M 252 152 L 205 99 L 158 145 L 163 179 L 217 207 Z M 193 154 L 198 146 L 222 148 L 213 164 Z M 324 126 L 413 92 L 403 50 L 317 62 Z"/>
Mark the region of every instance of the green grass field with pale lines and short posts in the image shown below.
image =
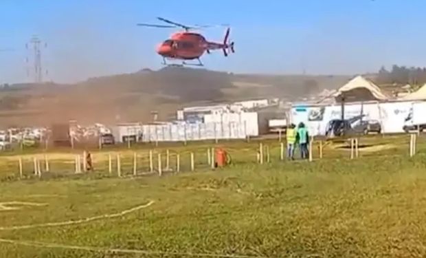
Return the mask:
<path id="1" fill-rule="evenodd" d="M 41 178 L 32 175 L 34 152 L 2 155 L 0 257 L 425 257 L 426 140 L 414 158 L 408 142 L 363 138 L 354 160 L 338 143 L 319 159 L 315 143 L 313 162 L 287 162 L 269 140 L 262 165 L 258 142 L 221 142 L 232 164 L 214 171 L 211 145 L 160 144 L 155 167 L 166 149 L 172 170 L 181 157 L 181 173 L 161 177 L 142 175 L 150 147 L 93 150 L 96 171 L 81 175 L 77 152 L 41 153 L 50 162 Z M 123 178 L 115 165 L 108 171 L 117 151 Z"/>

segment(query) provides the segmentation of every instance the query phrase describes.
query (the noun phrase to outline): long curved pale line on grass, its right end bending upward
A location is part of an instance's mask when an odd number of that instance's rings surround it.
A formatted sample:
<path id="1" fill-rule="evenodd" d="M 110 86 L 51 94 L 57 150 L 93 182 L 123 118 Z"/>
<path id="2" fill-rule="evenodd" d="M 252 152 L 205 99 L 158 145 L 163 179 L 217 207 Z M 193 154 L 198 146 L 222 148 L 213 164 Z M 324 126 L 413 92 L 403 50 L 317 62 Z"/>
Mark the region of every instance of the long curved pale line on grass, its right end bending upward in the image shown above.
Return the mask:
<path id="1" fill-rule="evenodd" d="M 122 217 L 128 213 L 133 213 L 135 211 L 139 211 L 142 208 L 147 208 L 151 206 L 154 203 L 154 201 L 148 202 L 148 204 L 139 205 L 133 208 L 129 208 L 128 210 L 122 211 L 120 213 L 113 213 L 113 214 L 104 214 L 104 215 L 98 215 L 95 217 L 87 217 L 85 219 L 78 219 L 78 220 L 69 220 L 67 222 L 49 222 L 49 223 L 43 223 L 43 224 L 32 224 L 32 225 L 22 225 L 22 226 L 10 226 L 10 227 L 0 227 L 0 230 L 16 230 L 16 229 L 27 229 L 27 228 L 46 228 L 49 226 L 67 226 L 67 225 L 73 225 L 73 224 L 82 224 L 86 222 L 91 222 L 93 220 L 98 219 L 111 219 L 114 217 Z"/>

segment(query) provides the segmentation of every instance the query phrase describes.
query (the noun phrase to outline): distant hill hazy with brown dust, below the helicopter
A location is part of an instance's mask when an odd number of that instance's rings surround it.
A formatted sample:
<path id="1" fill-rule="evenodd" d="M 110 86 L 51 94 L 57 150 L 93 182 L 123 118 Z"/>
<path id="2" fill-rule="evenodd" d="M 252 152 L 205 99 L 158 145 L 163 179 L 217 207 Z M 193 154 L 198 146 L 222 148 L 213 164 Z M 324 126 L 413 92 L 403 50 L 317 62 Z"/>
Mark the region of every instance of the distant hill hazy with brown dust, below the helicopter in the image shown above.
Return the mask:
<path id="1" fill-rule="evenodd" d="M 147 121 L 151 111 L 169 118 L 183 106 L 248 98 L 289 98 L 336 89 L 350 76 L 231 74 L 208 69 L 164 67 L 90 78 L 82 83 L 7 85 L 0 89 L 0 124 L 50 125 Z M 8 116 L 8 111 L 19 116 Z M 16 113 L 18 111 L 18 113 Z"/>

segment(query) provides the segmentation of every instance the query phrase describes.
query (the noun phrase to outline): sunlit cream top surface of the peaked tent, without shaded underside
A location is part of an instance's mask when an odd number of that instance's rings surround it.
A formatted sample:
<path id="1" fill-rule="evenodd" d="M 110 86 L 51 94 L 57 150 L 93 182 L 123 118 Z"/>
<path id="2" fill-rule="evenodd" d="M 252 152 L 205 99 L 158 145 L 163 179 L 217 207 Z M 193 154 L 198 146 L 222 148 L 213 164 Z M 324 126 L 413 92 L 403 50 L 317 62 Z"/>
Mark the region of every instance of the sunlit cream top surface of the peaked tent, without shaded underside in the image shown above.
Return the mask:
<path id="1" fill-rule="evenodd" d="M 340 96 L 343 93 L 348 93 L 356 90 L 367 90 L 370 92 L 372 97 L 376 98 L 377 100 L 387 100 L 388 96 L 383 94 L 381 92 L 381 89 L 372 83 L 370 80 L 367 80 L 366 78 L 363 78 L 363 76 L 357 76 L 350 80 L 346 85 L 342 86 L 337 93 L 335 94 L 335 97 Z"/>

